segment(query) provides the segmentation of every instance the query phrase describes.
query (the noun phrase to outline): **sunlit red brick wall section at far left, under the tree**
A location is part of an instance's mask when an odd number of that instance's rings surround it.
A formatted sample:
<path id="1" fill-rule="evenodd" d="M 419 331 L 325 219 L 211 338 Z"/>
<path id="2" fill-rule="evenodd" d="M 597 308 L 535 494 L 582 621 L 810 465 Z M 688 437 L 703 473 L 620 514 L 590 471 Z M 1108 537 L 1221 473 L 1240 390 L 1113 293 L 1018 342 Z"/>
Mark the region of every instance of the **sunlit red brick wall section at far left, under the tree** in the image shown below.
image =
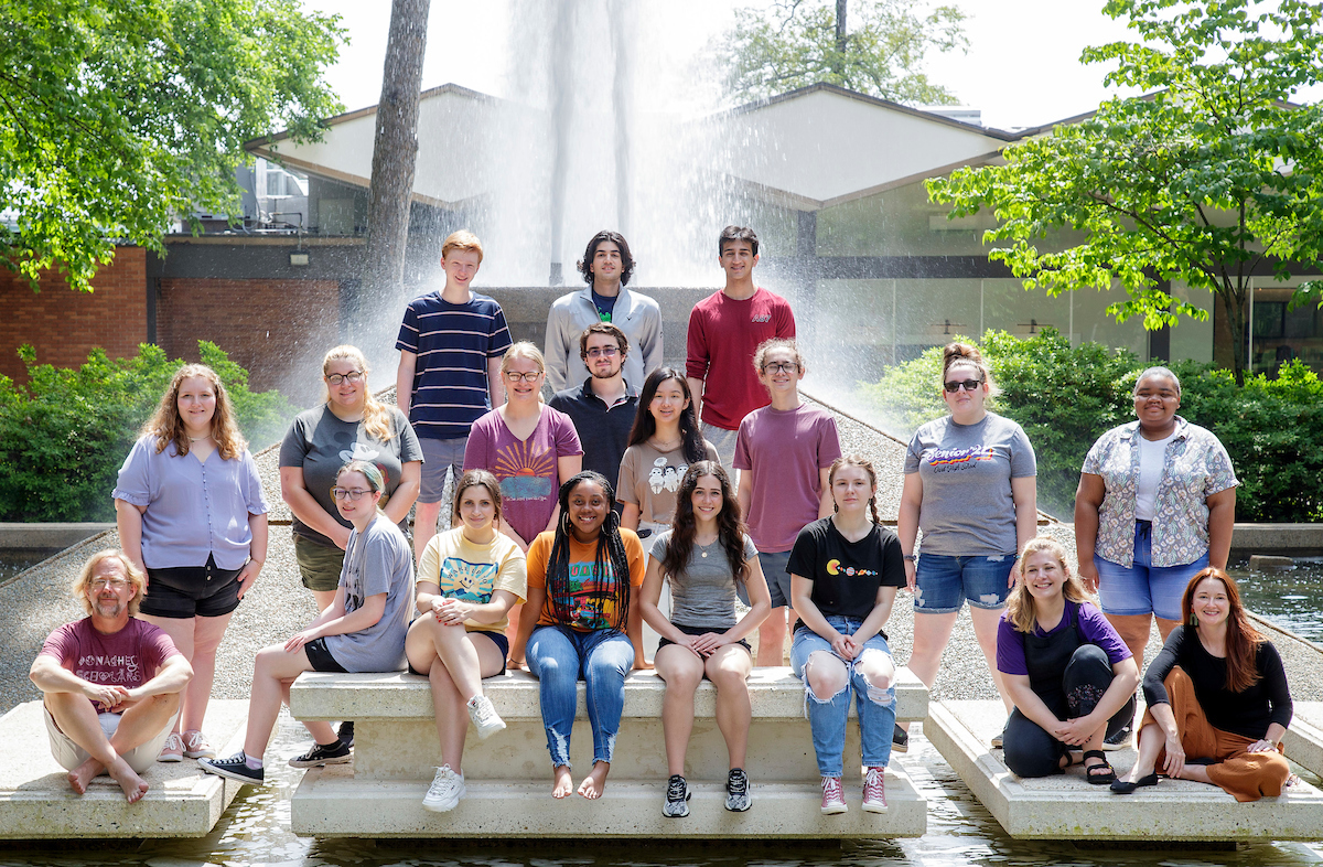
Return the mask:
<path id="1" fill-rule="evenodd" d="M 40 293 L 0 269 L 0 373 L 26 381 L 19 347 L 30 343 L 38 364 L 81 367 L 94 347 L 112 359 L 138 355 L 147 340 L 147 251 L 118 248 L 115 261 L 93 279 L 93 293 L 74 293 L 56 271 Z"/>

